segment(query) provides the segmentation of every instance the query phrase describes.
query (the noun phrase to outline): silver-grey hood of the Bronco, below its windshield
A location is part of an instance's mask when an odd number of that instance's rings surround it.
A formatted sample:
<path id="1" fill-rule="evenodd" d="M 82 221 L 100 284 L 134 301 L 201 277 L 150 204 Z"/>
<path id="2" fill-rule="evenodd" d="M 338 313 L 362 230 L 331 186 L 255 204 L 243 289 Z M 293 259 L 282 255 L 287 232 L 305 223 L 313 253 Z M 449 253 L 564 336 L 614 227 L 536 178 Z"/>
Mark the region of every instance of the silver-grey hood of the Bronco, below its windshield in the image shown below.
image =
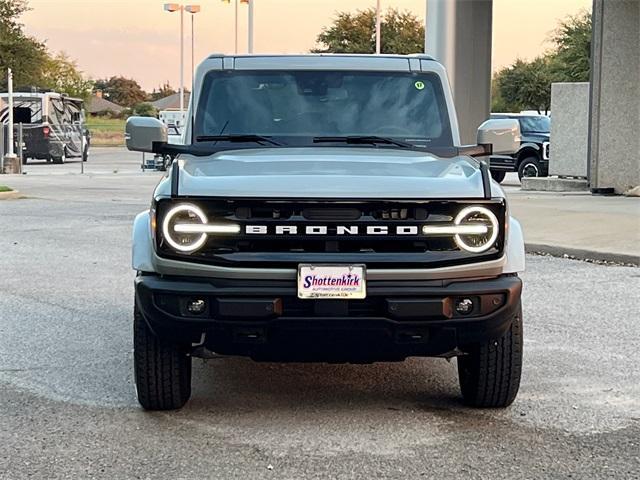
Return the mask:
<path id="1" fill-rule="evenodd" d="M 188 196 L 483 197 L 482 174 L 475 160 L 439 158 L 409 150 L 359 147 L 229 150 L 208 157 L 181 156 L 179 165 L 178 194 Z"/>

